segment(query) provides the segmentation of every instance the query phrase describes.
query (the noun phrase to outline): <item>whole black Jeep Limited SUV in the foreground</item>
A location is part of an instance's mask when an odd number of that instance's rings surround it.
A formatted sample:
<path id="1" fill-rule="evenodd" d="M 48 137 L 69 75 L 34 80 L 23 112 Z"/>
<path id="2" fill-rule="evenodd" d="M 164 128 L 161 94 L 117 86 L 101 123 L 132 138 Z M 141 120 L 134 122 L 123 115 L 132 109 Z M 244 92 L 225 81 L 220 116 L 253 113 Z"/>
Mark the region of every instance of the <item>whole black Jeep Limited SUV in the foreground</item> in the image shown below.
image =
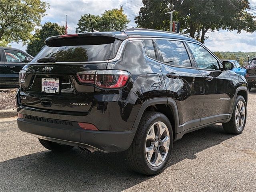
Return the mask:
<path id="1" fill-rule="evenodd" d="M 143 174 L 164 169 L 173 142 L 222 123 L 240 134 L 248 84 L 203 44 L 131 28 L 68 34 L 20 72 L 18 128 L 52 151 L 125 151 Z"/>

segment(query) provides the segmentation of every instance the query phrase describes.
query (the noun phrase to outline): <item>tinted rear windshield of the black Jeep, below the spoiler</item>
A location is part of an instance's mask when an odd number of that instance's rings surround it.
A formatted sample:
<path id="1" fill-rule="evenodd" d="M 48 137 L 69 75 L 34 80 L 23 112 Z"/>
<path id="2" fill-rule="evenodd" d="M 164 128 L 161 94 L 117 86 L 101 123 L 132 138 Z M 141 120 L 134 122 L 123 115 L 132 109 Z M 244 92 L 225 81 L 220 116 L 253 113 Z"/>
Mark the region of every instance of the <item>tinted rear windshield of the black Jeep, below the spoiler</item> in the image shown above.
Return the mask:
<path id="1" fill-rule="evenodd" d="M 73 39 L 73 40 L 72 40 Z M 55 41 L 55 40 L 52 40 Z M 44 46 L 31 62 L 40 58 L 55 57 L 56 62 L 104 61 L 116 56 L 121 41 L 113 38 L 70 38 L 57 39 Z"/>

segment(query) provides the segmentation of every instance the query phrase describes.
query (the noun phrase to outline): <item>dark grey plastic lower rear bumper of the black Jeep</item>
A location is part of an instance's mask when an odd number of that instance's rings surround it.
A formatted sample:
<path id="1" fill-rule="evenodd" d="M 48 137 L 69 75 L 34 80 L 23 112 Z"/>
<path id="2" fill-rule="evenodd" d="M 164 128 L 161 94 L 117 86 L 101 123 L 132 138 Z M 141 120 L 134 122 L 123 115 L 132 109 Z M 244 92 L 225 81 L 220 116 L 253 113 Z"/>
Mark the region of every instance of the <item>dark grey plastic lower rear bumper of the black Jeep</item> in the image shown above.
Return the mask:
<path id="1" fill-rule="evenodd" d="M 84 130 L 77 122 L 56 124 L 32 119 L 18 118 L 18 128 L 37 138 L 50 140 L 71 146 L 90 146 L 102 152 L 120 152 L 127 150 L 134 138 L 136 128 L 130 131 L 92 131 Z"/>

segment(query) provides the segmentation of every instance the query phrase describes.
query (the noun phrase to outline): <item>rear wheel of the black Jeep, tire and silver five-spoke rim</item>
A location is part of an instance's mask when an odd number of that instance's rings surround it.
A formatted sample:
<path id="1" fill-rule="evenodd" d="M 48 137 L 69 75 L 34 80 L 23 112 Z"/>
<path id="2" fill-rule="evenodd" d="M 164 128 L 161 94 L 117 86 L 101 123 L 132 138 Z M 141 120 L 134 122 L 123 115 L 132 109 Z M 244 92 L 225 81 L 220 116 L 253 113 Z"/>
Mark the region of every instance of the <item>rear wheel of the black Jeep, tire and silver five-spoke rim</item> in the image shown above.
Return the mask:
<path id="1" fill-rule="evenodd" d="M 161 137 L 161 134 L 158 134 L 160 127 L 162 128 Z M 130 168 L 135 172 L 154 175 L 164 170 L 172 147 L 173 133 L 168 118 L 160 112 L 144 112 L 134 140 L 130 148 L 126 150 L 126 157 Z M 146 152 L 146 149 L 150 149 L 150 151 Z M 168 152 L 166 153 L 166 151 Z"/>

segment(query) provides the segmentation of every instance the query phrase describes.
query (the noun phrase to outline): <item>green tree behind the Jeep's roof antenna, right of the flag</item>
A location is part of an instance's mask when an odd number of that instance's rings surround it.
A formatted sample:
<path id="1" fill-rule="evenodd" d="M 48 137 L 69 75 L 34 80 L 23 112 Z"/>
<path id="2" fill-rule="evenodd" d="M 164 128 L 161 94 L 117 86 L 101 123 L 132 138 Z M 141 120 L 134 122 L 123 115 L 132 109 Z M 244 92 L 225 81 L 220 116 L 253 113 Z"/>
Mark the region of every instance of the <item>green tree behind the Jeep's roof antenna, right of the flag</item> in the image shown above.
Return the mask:
<path id="1" fill-rule="evenodd" d="M 122 9 L 106 10 L 102 16 L 91 15 L 93 28 L 98 31 L 119 31 L 129 23 Z M 76 33 L 91 32 L 91 24 L 88 14 L 84 14 L 78 20 Z"/>

